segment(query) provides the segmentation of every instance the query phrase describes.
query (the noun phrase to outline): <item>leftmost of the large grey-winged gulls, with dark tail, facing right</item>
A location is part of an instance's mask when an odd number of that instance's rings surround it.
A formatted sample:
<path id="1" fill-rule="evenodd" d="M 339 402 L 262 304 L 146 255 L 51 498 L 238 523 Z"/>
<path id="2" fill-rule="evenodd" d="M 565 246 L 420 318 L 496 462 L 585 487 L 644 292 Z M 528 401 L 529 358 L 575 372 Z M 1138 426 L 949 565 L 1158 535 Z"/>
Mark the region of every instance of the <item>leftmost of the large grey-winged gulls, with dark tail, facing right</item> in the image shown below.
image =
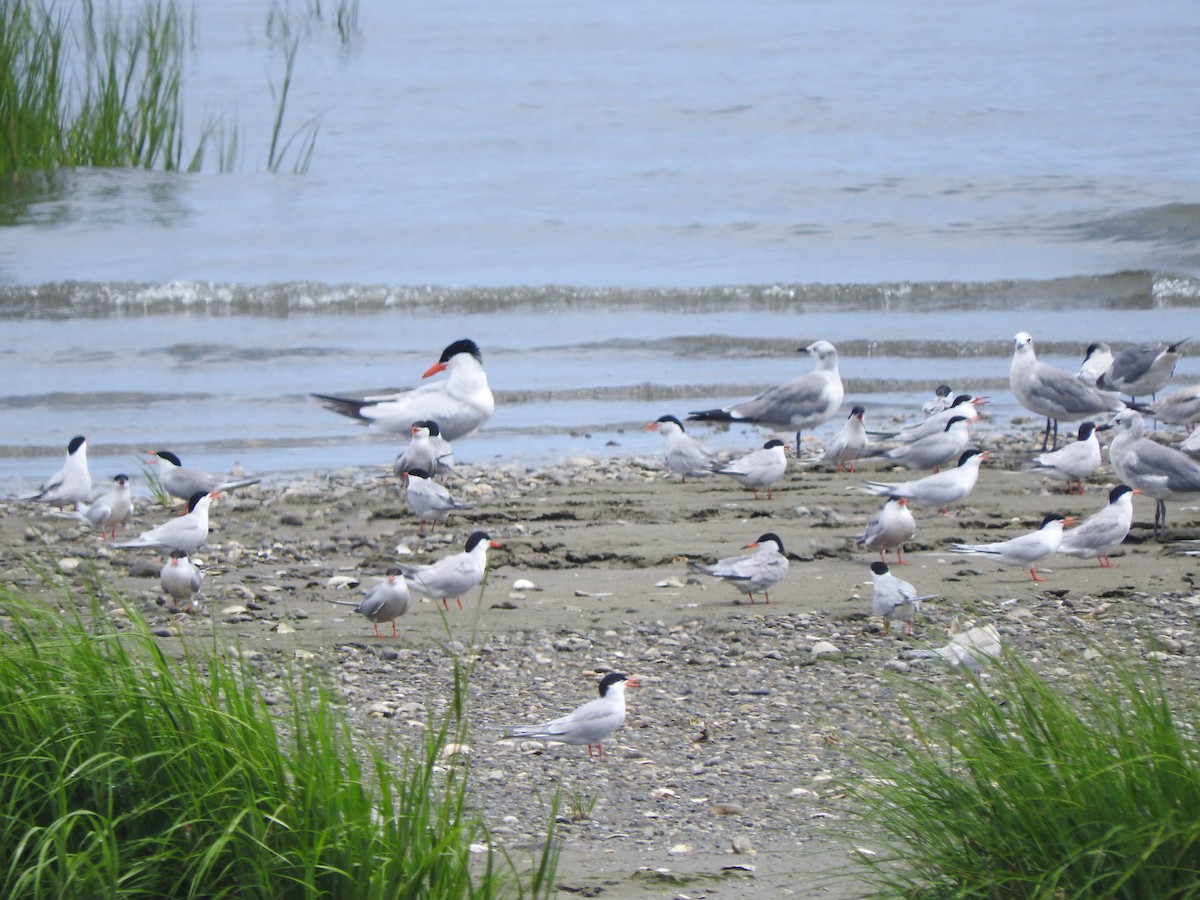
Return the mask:
<path id="1" fill-rule="evenodd" d="M 689 421 L 755 422 L 779 428 L 796 430 L 796 446 L 800 432 L 829 421 L 841 406 L 845 388 L 838 373 L 838 349 L 828 341 L 815 341 L 797 348 L 817 360 L 811 372 L 790 382 L 768 388 L 751 400 L 724 407 L 690 413 Z"/>

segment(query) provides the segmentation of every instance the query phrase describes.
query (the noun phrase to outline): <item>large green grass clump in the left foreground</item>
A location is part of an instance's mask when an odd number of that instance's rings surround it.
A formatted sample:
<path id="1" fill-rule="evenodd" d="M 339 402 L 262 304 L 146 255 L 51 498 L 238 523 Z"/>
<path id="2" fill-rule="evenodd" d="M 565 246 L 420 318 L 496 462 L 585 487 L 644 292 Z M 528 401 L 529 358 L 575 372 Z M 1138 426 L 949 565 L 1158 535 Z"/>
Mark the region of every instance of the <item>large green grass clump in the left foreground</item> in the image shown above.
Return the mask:
<path id="1" fill-rule="evenodd" d="M 461 670 L 451 714 L 392 767 L 318 676 L 170 660 L 136 612 L 119 630 L 103 606 L 0 590 L 0 896 L 548 895 L 552 835 L 533 874 L 472 858 L 486 830 L 466 764 L 444 758 L 466 739 Z"/>

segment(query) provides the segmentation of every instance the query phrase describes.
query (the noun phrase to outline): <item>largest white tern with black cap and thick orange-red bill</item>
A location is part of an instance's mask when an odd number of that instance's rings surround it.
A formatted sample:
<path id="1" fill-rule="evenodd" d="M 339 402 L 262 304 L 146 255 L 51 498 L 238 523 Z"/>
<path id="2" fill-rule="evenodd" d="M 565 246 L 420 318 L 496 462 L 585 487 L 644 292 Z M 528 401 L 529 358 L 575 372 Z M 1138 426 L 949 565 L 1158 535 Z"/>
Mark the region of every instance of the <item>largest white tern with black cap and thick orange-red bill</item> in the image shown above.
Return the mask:
<path id="1" fill-rule="evenodd" d="M 474 341 L 455 341 L 421 378 L 438 372 L 449 372 L 450 377 L 400 394 L 362 400 L 325 394 L 312 396 L 326 409 L 364 425 L 378 425 L 384 431 L 408 432 L 413 422 L 432 419 L 440 426 L 443 438 L 457 440 L 482 426 L 496 409 L 496 398 L 484 372 L 484 354 Z"/>

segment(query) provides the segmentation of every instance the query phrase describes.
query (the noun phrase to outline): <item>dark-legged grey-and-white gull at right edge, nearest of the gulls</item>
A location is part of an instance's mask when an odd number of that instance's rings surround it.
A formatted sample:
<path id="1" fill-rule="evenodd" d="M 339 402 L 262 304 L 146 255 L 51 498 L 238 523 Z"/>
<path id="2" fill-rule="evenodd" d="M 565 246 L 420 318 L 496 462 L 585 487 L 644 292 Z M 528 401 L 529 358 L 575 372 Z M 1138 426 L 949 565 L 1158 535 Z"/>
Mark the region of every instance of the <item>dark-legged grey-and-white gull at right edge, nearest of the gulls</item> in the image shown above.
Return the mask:
<path id="1" fill-rule="evenodd" d="M 1154 536 L 1166 534 L 1166 500 L 1200 496 L 1200 463 L 1172 446 L 1142 437 L 1141 415 L 1116 414 L 1110 426 L 1109 463 L 1117 478 L 1154 498 Z"/>

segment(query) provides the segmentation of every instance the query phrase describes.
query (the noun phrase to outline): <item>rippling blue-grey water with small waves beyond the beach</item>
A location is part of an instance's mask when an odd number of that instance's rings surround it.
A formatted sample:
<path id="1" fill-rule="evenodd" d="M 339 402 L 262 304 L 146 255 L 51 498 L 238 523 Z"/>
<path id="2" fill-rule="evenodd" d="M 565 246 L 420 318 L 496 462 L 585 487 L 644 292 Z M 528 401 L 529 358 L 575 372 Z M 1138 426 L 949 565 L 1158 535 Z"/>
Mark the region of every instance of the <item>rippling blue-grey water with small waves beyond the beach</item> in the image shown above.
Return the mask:
<path id="1" fill-rule="evenodd" d="M 348 49 L 308 23 L 293 175 L 265 172 L 270 5 L 205 4 L 188 133 L 236 118 L 236 174 L 0 188 L 0 485 L 77 432 L 97 474 L 386 463 L 307 394 L 410 386 L 463 336 L 499 398 L 474 462 L 652 452 L 644 421 L 817 337 L 869 415 L 948 380 L 1004 424 L 1014 332 L 1074 368 L 1200 320 L 1200 25 L 1051 6 L 364 2 Z"/>

